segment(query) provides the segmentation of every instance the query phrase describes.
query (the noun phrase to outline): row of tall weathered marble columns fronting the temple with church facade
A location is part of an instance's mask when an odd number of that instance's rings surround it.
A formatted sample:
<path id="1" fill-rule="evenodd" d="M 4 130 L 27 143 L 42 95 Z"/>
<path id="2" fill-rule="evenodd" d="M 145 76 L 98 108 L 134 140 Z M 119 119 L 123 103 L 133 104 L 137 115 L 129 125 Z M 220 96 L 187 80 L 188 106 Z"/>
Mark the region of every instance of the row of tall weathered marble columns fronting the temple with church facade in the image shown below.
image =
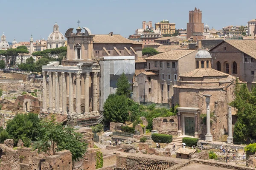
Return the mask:
<path id="1" fill-rule="evenodd" d="M 76 111 L 74 111 L 74 77 L 76 75 Z M 89 113 L 89 77 L 90 73 L 84 73 L 84 113 Z M 48 72 L 49 75 L 49 108 L 47 109 L 47 72 L 43 71 L 43 112 L 55 111 L 67 113 L 67 91 L 69 92 L 69 113 L 81 113 L 81 73 Z M 67 89 L 67 78 L 69 89 Z M 93 72 L 93 112 L 98 112 L 98 72 Z"/>

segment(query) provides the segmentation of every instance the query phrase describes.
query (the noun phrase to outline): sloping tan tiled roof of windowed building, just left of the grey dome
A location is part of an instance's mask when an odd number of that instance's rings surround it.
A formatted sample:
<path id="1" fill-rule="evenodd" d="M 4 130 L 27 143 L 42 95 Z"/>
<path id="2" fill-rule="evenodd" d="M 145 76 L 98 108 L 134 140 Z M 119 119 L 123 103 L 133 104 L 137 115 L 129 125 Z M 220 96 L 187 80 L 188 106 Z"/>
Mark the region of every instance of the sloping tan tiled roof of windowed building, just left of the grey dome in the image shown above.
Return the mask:
<path id="1" fill-rule="evenodd" d="M 171 50 L 165 53 L 160 53 L 160 54 L 145 58 L 145 60 L 147 59 L 177 60 L 195 51 L 198 51 L 198 50 L 195 50 L 195 49 Z"/>

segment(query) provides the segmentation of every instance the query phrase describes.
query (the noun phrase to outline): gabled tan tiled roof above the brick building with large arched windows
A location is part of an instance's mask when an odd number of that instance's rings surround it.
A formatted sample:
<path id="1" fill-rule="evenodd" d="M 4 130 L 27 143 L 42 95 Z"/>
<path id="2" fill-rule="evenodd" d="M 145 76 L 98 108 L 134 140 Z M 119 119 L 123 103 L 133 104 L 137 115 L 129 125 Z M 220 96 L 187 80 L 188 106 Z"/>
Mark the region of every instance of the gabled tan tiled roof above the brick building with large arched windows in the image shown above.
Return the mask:
<path id="1" fill-rule="evenodd" d="M 256 59 L 256 40 L 225 40 L 223 42 L 227 42 L 239 51 Z M 216 48 L 217 46 L 213 47 L 212 49 Z M 210 51 L 212 51 L 212 49 Z"/>

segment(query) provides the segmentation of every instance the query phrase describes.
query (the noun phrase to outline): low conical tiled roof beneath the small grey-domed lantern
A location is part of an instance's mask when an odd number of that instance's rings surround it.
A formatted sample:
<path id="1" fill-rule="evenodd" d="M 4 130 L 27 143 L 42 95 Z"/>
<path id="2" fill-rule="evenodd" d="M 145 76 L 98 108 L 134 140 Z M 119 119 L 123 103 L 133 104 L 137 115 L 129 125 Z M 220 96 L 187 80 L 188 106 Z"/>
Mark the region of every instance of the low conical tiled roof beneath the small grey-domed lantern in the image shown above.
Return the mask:
<path id="1" fill-rule="evenodd" d="M 217 71 L 212 68 L 201 68 L 201 69 L 195 69 L 189 72 L 186 72 L 180 77 L 198 77 L 198 78 L 203 78 L 203 77 L 224 77 L 228 76 L 228 74 L 223 73 L 221 71 Z"/>

